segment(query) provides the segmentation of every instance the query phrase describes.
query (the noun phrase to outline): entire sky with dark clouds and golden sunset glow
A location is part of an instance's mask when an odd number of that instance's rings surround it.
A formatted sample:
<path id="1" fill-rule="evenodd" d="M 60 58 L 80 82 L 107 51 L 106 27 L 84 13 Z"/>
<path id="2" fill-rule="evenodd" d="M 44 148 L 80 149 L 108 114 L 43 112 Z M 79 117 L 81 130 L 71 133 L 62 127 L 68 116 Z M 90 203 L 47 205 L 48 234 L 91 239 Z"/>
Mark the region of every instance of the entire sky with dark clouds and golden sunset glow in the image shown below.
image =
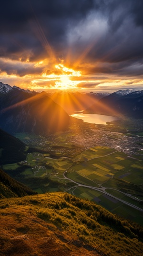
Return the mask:
<path id="1" fill-rule="evenodd" d="M 143 89 L 143 0 L 4 0 L 0 9 L 1 82 Z"/>

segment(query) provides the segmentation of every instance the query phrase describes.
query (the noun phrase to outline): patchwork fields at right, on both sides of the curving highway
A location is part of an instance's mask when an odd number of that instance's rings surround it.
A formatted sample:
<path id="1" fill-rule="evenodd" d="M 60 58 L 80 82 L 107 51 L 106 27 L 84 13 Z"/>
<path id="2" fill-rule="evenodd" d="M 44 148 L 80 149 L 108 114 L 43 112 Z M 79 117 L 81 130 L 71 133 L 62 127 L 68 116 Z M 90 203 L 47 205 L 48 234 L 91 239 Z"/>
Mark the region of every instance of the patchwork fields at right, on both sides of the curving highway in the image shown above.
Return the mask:
<path id="1" fill-rule="evenodd" d="M 131 214 L 125 210 L 127 205 L 112 198 L 113 195 L 117 199 L 122 199 L 139 208 L 143 208 L 143 204 L 135 200 L 137 195 L 138 198 L 143 199 L 143 160 L 136 157 L 129 157 L 123 152 L 114 151 L 103 147 L 88 149 L 82 152 L 81 155 L 78 155 L 79 158 L 82 156 L 81 163 L 69 168 L 67 173 L 68 178 L 80 184 L 82 183 L 95 188 L 100 188 L 100 186 L 111 188 L 106 189 L 111 194 L 111 197 L 102 192 L 82 187 L 74 188 L 73 194 L 81 198 L 93 200 L 113 213 L 119 214 L 120 212 L 121 215 L 125 214 L 129 219 L 138 217 L 139 222 L 143 224 L 143 219 L 141 218 L 143 213 L 141 211 L 128 206 L 127 209 L 129 208 L 133 212 Z M 121 193 L 119 191 L 120 189 L 123 189 L 125 193 L 131 193 L 134 199 Z"/>

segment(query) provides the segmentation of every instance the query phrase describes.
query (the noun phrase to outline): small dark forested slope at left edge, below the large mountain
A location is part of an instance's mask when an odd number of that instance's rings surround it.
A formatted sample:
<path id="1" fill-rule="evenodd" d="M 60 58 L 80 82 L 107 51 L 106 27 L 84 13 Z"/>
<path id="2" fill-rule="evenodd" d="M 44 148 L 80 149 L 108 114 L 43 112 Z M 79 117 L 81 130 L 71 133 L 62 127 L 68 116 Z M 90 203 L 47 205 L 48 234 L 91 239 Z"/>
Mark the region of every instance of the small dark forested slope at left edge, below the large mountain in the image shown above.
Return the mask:
<path id="1" fill-rule="evenodd" d="M 25 144 L 0 129 L 0 165 L 11 164 L 26 159 Z"/>

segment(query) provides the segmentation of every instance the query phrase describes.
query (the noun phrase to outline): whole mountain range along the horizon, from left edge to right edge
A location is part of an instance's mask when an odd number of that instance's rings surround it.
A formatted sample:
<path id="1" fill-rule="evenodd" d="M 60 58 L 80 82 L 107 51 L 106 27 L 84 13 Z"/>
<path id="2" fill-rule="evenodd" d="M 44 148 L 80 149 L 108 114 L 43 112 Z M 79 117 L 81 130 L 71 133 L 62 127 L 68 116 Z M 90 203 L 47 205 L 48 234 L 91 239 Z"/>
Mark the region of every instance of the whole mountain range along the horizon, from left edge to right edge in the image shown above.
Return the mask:
<path id="1" fill-rule="evenodd" d="M 140 119 L 143 118 L 143 90 L 118 90 L 112 94 L 37 93 L 0 82 L 0 128 L 7 132 L 47 134 L 65 130 L 70 120 L 68 114 L 82 110 L 84 113 L 123 114 Z"/>

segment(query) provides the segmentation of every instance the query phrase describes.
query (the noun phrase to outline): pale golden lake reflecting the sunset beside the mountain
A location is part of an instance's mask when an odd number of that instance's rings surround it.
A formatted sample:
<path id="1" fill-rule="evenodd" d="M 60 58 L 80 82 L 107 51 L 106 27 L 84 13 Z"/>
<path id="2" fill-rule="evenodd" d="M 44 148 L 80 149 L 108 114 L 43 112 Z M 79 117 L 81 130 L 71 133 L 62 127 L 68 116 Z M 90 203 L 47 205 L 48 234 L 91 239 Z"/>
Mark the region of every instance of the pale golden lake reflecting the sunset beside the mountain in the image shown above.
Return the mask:
<path id="1" fill-rule="evenodd" d="M 97 115 L 97 114 L 76 113 L 76 114 L 72 114 L 71 116 L 82 119 L 83 122 L 96 123 L 96 124 L 107 124 L 106 122 L 113 122 L 113 121 L 119 120 L 118 117 L 107 116 L 107 115 Z"/>

